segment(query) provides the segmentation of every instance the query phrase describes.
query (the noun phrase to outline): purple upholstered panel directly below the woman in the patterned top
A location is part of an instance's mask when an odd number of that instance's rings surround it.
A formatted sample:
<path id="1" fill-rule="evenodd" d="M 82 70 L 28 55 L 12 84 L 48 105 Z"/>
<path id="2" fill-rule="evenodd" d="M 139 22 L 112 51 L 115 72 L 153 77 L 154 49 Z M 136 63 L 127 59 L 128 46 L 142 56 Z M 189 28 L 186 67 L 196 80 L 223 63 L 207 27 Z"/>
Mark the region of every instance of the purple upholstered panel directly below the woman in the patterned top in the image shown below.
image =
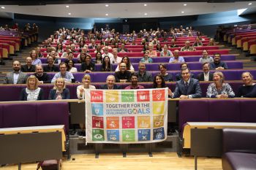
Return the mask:
<path id="1" fill-rule="evenodd" d="M 239 122 L 240 102 L 239 100 L 209 100 L 210 122 Z M 200 108 L 200 107 L 198 107 Z"/>

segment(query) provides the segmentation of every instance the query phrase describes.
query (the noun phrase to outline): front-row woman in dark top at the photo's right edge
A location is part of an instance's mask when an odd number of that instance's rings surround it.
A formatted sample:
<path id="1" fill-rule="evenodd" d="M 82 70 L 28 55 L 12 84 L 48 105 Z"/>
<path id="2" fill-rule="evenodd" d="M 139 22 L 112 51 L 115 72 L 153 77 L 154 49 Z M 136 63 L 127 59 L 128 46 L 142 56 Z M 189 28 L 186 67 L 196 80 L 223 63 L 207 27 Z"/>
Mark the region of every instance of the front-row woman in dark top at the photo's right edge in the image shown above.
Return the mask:
<path id="1" fill-rule="evenodd" d="M 256 97 L 256 84 L 252 82 L 253 77 L 250 72 L 244 72 L 242 74 L 242 80 L 244 85 L 241 85 L 238 88 L 237 97 L 247 97 L 247 98 L 255 98 Z"/>

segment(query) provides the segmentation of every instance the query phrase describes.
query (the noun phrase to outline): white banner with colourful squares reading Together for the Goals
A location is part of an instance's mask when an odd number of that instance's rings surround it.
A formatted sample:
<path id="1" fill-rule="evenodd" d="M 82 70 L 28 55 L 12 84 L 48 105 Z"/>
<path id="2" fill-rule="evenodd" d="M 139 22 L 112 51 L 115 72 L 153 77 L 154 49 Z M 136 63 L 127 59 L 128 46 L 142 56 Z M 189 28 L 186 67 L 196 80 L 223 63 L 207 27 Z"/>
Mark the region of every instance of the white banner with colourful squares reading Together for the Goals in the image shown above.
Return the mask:
<path id="1" fill-rule="evenodd" d="M 86 90 L 86 142 L 150 143 L 167 138 L 167 88 Z"/>

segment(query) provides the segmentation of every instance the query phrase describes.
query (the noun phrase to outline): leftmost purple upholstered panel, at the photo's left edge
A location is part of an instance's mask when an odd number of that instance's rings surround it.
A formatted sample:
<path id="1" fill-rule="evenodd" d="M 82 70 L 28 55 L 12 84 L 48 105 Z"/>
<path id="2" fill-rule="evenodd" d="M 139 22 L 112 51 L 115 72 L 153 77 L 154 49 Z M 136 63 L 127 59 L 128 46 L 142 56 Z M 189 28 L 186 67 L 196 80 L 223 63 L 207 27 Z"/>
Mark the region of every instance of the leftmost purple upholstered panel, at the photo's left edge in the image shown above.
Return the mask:
<path id="1" fill-rule="evenodd" d="M 36 126 L 37 104 L 0 104 L 3 112 L 3 128 Z"/>

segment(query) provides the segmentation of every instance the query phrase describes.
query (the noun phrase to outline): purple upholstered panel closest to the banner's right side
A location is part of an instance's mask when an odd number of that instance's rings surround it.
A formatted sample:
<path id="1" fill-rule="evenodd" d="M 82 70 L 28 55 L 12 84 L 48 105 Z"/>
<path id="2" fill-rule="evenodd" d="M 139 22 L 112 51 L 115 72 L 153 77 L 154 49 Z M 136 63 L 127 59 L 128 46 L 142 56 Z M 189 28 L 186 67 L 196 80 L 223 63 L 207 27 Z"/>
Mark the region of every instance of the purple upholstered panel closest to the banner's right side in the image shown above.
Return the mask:
<path id="1" fill-rule="evenodd" d="M 198 108 L 198 109 L 195 109 Z M 209 119 L 207 100 L 181 100 L 178 103 L 178 125 L 181 131 L 182 125 L 187 122 L 205 122 Z M 203 111 L 203 112 L 200 112 Z"/>

